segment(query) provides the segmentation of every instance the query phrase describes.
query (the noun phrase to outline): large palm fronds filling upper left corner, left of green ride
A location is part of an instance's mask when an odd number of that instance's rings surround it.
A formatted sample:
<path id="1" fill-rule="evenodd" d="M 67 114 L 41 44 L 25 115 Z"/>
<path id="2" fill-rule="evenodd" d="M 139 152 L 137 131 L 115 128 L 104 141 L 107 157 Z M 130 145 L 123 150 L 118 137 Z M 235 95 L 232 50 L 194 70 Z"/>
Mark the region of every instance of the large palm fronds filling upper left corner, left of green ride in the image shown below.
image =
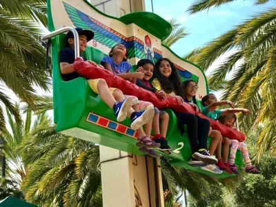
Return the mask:
<path id="1" fill-rule="evenodd" d="M 50 86 L 50 71 L 44 66 L 45 50 L 38 41 L 40 23 L 47 26 L 47 5 L 46 0 L 3 0 L 0 7 L 0 101 L 20 121 L 5 88 L 34 108 L 34 86 L 43 90 Z M 0 130 L 4 127 L 0 108 Z"/>

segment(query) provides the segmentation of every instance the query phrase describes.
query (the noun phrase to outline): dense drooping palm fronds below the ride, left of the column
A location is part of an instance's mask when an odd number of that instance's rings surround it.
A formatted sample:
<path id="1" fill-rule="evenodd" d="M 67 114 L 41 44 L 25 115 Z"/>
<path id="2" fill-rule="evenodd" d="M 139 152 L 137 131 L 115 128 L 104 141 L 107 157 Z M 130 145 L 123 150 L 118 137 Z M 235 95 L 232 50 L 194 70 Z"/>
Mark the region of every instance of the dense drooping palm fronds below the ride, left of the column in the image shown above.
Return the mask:
<path id="1" fill-rule="evenodd" d="M 32 204 L 102 206 L 99 146 L 55 132 L 43 113 L 19 152 L 28 165 L 22 189 Z"/>

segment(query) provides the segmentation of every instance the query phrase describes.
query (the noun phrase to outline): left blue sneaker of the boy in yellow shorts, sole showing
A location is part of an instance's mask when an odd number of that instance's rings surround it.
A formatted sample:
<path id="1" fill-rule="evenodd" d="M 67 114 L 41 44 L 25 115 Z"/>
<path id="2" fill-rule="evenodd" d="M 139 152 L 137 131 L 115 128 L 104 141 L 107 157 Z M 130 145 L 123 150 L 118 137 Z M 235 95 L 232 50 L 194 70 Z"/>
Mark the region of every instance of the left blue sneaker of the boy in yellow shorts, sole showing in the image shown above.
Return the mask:
<path id="1" fill-rule="evenodd" d="M 115 117 L 117 119 L 117 121 L 121 122 L 124 121 L 124 119 L 126 119 L 126 116 L 128 115 L 128 110 L 131 108 L 132 106 L 132 99 L 131 97 L 127 97 L 126 99 L 124 99 L 124 101 L 115 103 Z"/>

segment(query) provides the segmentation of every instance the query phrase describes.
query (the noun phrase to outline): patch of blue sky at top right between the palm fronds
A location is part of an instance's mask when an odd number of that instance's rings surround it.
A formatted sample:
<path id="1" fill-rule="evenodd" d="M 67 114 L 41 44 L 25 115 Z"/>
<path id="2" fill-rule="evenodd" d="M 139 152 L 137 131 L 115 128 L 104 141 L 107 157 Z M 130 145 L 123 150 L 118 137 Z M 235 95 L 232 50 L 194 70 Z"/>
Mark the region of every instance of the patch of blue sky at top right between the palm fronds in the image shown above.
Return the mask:
<path id="1" fill-rule="evenodd" d="M 266 3 L 255 6 L 254 0 L 238 0 L 227 3 L 219 8 L 212 8 L 208 12 L 199 12 L 191 16 L 186 14 L 187 8 L 193 4 L 193 0 L 152 0 L 155 14 L 168 19 L 177 17 L 179 22 L 185 26 L 189 35 L 175 43 L 172 50 L 177 55 L 186 55 L 191 50 L 203 46 L 211 39 L 232 29 L 246 19 L 250 19 L 257 12 L 265 8 L 275 6 L 275 3 Z M 145 0 L 146 10 L 152 11 L 151 0 Z"/>

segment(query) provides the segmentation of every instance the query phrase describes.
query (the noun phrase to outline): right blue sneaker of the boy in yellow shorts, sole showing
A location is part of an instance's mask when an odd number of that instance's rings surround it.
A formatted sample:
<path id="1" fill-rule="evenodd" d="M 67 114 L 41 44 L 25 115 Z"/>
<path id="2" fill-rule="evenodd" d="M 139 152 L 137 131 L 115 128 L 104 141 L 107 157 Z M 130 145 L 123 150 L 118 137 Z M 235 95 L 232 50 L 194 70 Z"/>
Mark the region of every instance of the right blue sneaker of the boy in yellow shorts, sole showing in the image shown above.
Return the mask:
<path id="1" fill-rule="evenodd" d="M 135 117 L 131 119 L 130 127 L 134 130 L 141 128 L 144 124 L 147 124 L 152 120 L 155 115 L 155 110 L 153 108 L 148 108 L 144 111 L 135 112 Z"/>

